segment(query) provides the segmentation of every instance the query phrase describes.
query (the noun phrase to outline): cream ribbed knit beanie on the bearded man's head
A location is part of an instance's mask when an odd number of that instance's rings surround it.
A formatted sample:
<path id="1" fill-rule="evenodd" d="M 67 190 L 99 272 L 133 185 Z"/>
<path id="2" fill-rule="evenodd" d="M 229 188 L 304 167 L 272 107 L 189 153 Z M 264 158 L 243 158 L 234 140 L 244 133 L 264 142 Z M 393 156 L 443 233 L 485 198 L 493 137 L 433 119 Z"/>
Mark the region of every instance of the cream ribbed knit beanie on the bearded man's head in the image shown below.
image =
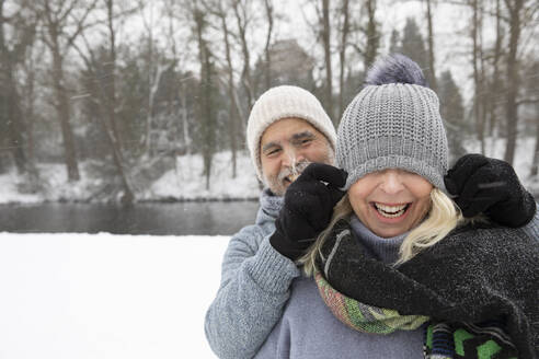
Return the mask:
<path id="1" fill-rule="evenodd" d="M 251 160 L 261 181 L 262 163 L 260 140 L 273 123 L 288 117 L 301 118 L 322 132 L 335 149 L 336 132 L 320 102 L 309 91 L 298 86 L 282 85 L 267 90 L 254 103 L 249 115 L 246 140 Z"/>

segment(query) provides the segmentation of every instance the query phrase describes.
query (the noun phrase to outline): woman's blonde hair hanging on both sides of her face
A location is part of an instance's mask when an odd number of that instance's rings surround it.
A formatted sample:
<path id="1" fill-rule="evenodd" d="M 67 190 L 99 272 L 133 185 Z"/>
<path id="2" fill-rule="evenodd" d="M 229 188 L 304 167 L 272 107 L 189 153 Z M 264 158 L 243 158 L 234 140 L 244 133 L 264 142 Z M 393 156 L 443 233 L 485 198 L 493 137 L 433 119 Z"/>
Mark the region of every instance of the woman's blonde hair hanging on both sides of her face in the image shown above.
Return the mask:
<path id="1" fill-rule="evenodd" d="M 333 216 L 328 228 L 319 234 L 307 254 L 299 259 L 308 276 L 313 275 L 316 258 L 321 253 L 322 245 L 330 236 L 335 223 L 342 219 L 349 220 L 352 212 L 352 205 L 346 194 L 333 208 Z M 462 221 L 463 218 L 457 205 L 440 189 L 434 188 L 431 192 L 431 208 L 427 216 L 402 242 L 395 265 L 412 259 L 424 248 L 438 243 Z"/>

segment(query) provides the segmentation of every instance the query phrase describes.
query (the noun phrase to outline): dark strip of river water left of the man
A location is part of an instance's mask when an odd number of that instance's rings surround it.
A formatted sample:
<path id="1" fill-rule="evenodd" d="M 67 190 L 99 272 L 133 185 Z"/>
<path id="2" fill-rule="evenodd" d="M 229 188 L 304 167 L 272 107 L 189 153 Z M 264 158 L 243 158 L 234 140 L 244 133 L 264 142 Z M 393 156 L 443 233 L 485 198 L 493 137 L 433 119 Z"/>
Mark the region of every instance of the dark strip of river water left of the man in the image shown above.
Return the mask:
<path id="1" fill-rule="evenodd" d="M 230 235 L 254 222 L 257 201 L 0 206 L 0 232 Z"/>

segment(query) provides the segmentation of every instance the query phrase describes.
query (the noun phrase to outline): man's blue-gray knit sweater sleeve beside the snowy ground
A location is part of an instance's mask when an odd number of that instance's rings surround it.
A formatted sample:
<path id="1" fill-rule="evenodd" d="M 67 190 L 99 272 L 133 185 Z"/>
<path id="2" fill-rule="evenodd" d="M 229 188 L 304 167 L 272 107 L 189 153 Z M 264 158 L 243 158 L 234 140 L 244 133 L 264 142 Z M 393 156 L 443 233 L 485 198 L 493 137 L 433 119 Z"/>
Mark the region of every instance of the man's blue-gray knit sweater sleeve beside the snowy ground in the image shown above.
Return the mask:
<path id="1" fill-rule="evenodd" d="M 291 280 L 300 271 L 256 225 L 230 240 L 221 270 L 206 313 L 206 337 L 219 358 L 252 358 L 280 319 Z"/>

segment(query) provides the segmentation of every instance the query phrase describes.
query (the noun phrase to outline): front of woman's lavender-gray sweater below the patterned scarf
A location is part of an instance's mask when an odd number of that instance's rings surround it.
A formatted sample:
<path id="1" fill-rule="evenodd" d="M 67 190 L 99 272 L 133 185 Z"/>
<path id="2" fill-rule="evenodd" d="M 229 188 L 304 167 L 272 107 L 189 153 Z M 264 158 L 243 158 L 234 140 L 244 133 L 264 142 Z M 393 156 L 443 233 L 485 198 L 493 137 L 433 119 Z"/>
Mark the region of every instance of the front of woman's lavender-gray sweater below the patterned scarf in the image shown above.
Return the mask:
<path id="1" fill-rule="evenodd" d="M 354 331 L 331 313 L 312 278 L 299 277 L 280 321 L 254 359 L 422 359 L 423 332 Z"/>

